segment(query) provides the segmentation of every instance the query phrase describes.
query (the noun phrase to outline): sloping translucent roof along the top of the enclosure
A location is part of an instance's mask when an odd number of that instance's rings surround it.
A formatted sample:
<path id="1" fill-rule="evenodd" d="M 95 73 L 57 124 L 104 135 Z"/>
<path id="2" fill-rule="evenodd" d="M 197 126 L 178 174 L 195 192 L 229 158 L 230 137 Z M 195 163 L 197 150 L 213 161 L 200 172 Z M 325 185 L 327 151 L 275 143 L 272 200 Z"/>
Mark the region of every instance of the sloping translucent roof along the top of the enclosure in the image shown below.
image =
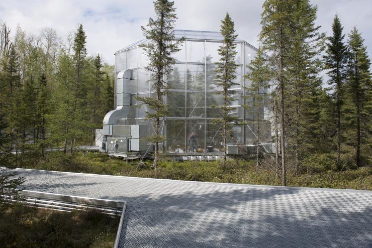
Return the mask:
<path id="1" fill-rule="evenodd" d="M 221 40 L 224 39 L 221 32 L 214 32 L 214 31 L 174 30 L 173 33 L 174 33 L 174 37 L 177 38 L 177 39 L 180 39 L 182 37 L 184 37 L 185 39 L 217 40 L 217 41 L 218 40 L 221 41 Z M 135 43 L 133 43 L 129 46 L 126 46 L 126 47 L 120 49 L 117 52 L 127 50 L 127 49 L 130 49 L 132 47 L 137 47 L 137 46 L 139 46 L 141 44 L 144 44 L 148 41 L 149 40 L 147 40 L 147 39 L 137 41 L 137 42 L 135 42 Z"/>

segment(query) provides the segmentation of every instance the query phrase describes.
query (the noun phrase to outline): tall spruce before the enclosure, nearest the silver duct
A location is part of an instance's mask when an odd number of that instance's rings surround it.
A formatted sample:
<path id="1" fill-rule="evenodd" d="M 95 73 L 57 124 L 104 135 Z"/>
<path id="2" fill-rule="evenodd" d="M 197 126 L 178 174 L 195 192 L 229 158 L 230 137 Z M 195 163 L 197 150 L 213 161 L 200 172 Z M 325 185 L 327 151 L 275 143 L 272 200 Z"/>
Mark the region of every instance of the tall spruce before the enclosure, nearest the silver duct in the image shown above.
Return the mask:
<path id="1" fill-rule="evenodd" d="M 154 135 L 149 141 L 155 144 L 154 169 L 157 169 L 159 143 L 164 141 L 160 135 L 160 118 L 168 114 L 167 106 L 164 104 L 164 95 L 167 94 L 166 76 L 171 72 L 175 59 L 172 54 L 179 51 L 179 45 L 183 41 L 174 41 L 174 23 L 176 21 L 174 2 L 169 0 L 154 1 L 156 19 L 149 19 L 147 29 L 141 27 L 146 39 L 151 43 L 143 44 L 141 47 L 149 58 L 146 70 L 150 73 L 150 81 L 153 82 L 155 98 L 137 97 L 138 100 L 148 105 L 152 111 L 146 112 L 146 118 L 152 120 Z"/>

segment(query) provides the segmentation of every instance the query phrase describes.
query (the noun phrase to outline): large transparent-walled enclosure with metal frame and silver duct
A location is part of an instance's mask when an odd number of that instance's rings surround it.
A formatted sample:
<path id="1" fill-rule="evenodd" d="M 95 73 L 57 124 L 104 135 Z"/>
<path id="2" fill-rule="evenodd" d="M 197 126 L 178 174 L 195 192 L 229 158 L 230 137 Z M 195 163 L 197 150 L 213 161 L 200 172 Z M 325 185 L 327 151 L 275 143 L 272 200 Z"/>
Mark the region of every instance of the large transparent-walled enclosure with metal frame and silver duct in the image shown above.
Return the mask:
<path id="1" fill-rule="evenodd" d="M 174 35 L 176 39 L 184 37 L 185 41 L 181 50 L 174 54 L 176 63 L 167 78 L 169 93 L 165 102 L 169 105 L 169 115 L 162 120 L 161 132 L 166 141 L 162 144 L 161 150 L 168 154 L 219 154 L 222 148 L 220 136 L 222 129 L 212 120 L 220 116 L 218 108 L 214 106 L 222 103 L 222 95 L 217 94 L 218 87 L 214 83 L 214 69 L 219 60 L 217 49 L 222 44 L 223 37 L 219 32 L 188 30 L 175 30 Z M 151 81 L 148 81 L 149 74 L 145 69 L 148 60 L 139 47 L 147 42 L 150 41 L 136 42 L 115 53 L 116 110 L 105 116 L 104 142 L 107 142 L 107 138 L 113 137 L 108 125 L 146 126 L 146 134 L 142 133 L 142 138 L 150 136 L 153 131 L 149 120 L 144 119 L 145 111 L 148 109 L 144 105 L 138 107 L 141 102 L 135 98 L 154 94 Z M 233 127 L 234 138 L 228 141 L 228 153 L 245 154 L 248 147 L 254 146 L 253 120 L 257 118 L 263 120 L 262 123 L 267 130 L 265 135 L 261 136 L 261 142 L 267 143 L 271 149 L 271 124 L 267 108 L 263 107 L 260 114 L 254 114 L 242 107 L 245 101 L 249 100 L 245 97 L 247 92 L 244 88 L 249 85 L 249 81 L 244 79 L 248 70 L 246 64 L 254 58 L 257 49 L 245 41 L 237 40 L 235 43 L 238 52 L 236 63 L 239 65 L 236 70 L 238 85 L 234 87 L 237 94 L 236 100 L 231 104 L 234 107 L 231 114 L 241 120 L 251 121 L 252 125 L 250 128 L 244 125 Z M 137 136 L 141 139 L 141 135 Z M 126 137 L 130 139 L 131 135 Z M 142 145 L 139 146 L 142 150 L 148 149 L 147 143 L 142 142 Z M 105 148 L 106 146 L 109 144 L 106 144 Z"/>

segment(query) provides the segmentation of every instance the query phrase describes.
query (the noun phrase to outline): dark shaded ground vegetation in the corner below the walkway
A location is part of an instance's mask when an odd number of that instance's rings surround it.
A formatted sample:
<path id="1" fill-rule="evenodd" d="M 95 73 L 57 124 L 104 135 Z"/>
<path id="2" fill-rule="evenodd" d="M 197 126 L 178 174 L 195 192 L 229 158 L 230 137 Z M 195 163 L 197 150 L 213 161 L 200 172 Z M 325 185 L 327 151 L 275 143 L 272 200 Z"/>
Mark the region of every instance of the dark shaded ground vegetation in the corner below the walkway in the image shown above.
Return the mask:
<path id="1" fill-rule="evenodd" d="M 21 205 L 0 209 L 0 247 L 113 247 L 119 224 L 97 210 L 61 212 Z"/>

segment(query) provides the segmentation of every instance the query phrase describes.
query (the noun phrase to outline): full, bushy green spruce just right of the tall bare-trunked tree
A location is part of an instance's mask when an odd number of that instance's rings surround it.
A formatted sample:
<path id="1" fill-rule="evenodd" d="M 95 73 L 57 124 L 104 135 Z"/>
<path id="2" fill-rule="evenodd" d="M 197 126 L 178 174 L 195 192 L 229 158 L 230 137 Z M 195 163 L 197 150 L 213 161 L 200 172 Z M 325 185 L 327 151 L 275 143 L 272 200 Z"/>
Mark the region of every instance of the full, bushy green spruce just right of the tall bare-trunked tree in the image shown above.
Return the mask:
<path id="1" fill-rule="evenodd" d="M 293 154 L 295 171 L 299 173 L 301 160 L 310 147 L 316 147 L 317 120 L 319 118 L 318 92 L 323 69 L 320 60 L 324 49 L 325 34 L 315 26 L 317 7 L 309 0 L 299 0 L 292 6 L 290 19 L 292 47 L 289 51 L 287 114 L 291 116 L 288 127 L 288 147 Z"/>

